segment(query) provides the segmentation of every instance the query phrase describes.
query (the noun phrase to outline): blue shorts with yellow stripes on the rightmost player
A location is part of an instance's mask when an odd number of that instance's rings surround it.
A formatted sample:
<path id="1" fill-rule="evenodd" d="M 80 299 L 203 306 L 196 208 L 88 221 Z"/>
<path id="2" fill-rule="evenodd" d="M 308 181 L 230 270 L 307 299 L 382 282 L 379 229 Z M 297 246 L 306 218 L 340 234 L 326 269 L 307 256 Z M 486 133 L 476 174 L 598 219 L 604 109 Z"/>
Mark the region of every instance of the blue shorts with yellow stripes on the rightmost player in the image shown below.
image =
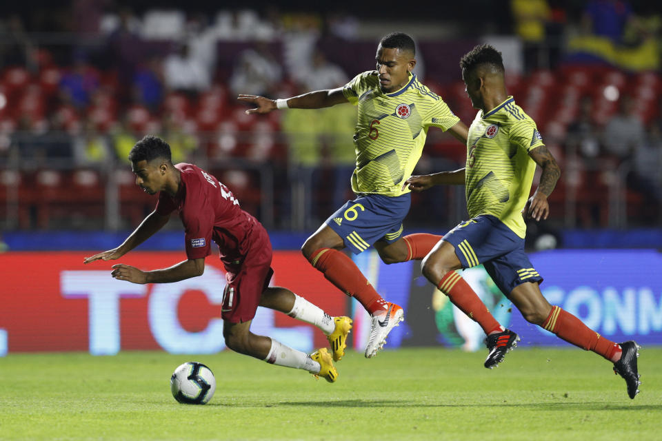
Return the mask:
<path id="1" fill-rule="evenodd" d="M 463 268 L 482 263 L 506 296 L 522 283 L 543 281 L 524 252 L 524 239 L 495 216 L 481 215 L 460 223 L 443 240 L 455 247 Z"/>

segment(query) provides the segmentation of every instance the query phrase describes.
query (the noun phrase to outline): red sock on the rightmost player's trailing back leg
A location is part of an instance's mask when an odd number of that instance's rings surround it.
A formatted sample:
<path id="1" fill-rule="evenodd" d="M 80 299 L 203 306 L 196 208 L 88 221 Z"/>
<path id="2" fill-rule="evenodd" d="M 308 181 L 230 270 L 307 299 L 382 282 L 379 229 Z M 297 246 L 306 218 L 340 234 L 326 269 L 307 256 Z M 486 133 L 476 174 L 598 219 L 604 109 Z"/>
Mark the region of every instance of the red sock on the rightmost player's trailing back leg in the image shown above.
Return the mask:
<path id="1" fill-rule="evenodd" d="M 607 360 L 616 362 L 621 358 L 621 347 L 602 337 L 596 331 L 590 329 L 567 311 L 558 306 L 552 306 L 552 311 L 547 320 L 543 323 L 543 328 L 553 332 L 559 338 L 579 346 L 585 351 L 593 351 Z"/>

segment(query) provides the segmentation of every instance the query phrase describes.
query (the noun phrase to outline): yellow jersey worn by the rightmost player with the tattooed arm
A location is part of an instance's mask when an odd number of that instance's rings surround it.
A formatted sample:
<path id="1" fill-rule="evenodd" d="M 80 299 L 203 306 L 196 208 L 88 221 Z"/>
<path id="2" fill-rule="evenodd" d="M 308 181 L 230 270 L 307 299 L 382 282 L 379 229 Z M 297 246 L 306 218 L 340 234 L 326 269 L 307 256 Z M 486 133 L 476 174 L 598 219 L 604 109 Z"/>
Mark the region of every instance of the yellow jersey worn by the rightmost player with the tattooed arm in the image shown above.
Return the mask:
<path id="1" fill-rule="evenodd" d="M 541 145 L 536 123 L 512 96 L 485 115 L 478 112 L 467 140 L 469 216 L 492 214 L 523 238 L 526 225 L 521 211 L 536 170 L 528 153 Z"/>

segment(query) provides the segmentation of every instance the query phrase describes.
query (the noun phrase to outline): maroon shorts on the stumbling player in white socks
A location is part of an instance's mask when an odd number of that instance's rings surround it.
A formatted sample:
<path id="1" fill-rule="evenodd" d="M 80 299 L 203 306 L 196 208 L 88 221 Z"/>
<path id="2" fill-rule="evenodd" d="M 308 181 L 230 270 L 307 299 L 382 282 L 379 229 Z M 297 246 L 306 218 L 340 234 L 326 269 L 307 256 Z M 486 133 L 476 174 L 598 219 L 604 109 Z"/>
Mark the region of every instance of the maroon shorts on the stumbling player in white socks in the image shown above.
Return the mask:
<path id="1" fill-rule="evenodd" d="M 250 251 L 238 263 L 225 265 L 225 291 L 221 318 L 231 323 L 252 320 L 260 304 L 263 291 L 269 286 L 272 250 L 269 236 L 264 232 L 252 244 Z"/>

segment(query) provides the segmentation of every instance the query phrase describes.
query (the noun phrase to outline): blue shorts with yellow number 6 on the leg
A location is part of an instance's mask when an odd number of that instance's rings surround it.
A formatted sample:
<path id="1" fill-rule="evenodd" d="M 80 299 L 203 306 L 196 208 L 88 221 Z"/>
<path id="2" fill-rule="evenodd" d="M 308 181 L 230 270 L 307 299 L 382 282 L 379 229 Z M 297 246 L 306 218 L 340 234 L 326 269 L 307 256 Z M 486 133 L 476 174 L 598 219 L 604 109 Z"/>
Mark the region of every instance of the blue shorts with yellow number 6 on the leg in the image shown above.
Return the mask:
<path id="1" fill-rule="evenodd" d="M 410 193 L 394 197 L 366 194 L 345 203 L 325 223 L 343 238 L 352 253 L 359 254 L 377 240 L 398 240 L 411 203 Z"/>

